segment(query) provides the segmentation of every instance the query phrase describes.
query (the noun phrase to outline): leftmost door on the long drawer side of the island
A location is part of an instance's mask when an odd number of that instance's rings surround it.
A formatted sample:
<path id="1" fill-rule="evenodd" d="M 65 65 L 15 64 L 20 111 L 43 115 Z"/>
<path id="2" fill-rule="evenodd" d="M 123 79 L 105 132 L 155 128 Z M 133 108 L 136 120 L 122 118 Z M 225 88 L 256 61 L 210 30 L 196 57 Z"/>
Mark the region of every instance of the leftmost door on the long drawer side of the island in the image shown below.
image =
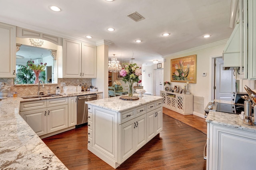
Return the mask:
<path id="1" fill-rule="evenodd" d="M 134 120 L 120 125 L 120 162 L 126 160 L 134 152 Z"/>

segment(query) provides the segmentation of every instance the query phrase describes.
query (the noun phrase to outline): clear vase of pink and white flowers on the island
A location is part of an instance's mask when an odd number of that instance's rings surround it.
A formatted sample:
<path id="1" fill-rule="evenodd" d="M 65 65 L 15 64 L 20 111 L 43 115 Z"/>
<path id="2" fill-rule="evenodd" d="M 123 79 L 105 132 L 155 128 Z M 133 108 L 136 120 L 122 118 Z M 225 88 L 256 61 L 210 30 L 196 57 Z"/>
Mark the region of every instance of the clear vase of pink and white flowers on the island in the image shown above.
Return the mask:
<path id="1" fill-rule="evenodd" d="M 136 63 L 126 63 L 120 71 L 120 76 L 123 77 L 124 83 L 128 84 L 128 97 L 132 97 L 133 84 L 141 82 L 139 76 L 141 75 L 140 67 Z"/>

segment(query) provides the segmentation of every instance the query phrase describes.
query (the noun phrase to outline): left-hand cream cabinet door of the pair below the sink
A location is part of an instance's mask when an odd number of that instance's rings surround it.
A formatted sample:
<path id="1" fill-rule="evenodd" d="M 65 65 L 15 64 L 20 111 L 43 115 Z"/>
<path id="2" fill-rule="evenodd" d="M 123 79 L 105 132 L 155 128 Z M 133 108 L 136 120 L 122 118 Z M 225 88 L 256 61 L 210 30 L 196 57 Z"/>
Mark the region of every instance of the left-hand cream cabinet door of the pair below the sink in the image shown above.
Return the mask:
<path id="1" fill-rule="evenodd" d="M 46 109 L 24 111 L 20 112 L 20 115 L 38 136 L 47 133 Z"/>

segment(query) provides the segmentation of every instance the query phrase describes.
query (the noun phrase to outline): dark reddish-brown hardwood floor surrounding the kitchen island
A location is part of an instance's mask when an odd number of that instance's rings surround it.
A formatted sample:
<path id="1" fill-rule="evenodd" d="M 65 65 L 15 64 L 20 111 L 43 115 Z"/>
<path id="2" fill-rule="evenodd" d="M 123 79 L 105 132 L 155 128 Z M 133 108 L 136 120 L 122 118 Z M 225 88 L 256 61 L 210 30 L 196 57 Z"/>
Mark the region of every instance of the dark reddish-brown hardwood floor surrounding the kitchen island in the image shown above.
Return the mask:
<path id="1" fill-rule="evenodd" d="M 169 111 L 169 109 L 164 109 L 163 112 L 170 115 Z M 176 114 L 180 116 L 179 113 Z M 197 119 L 190 119 L 190 123 L 194 122 L 201 127 L 200 123 L 196 123 Z M 203 119 L 201 121 L 206 124 Z M 206 160 L 203 158 L 203 150 L 206 134 L 197 130 L 196 127 L 190 126 L 164 114 L 163 130 L 160 134 L 140 148 L 117 169 L 205 170 Z M 69 170 L 114 169 L 87 150 L 87 126 L 42 140 Z"/>

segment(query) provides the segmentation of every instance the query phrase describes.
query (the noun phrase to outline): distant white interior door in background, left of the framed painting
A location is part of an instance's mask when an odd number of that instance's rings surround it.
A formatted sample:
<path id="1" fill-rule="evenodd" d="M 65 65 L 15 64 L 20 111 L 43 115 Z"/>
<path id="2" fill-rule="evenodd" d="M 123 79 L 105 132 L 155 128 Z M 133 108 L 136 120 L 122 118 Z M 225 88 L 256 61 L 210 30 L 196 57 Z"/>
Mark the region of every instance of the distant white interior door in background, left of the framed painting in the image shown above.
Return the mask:
<path id="1" fill-rule="evenodd" d="M 164 69 L 155 69 L 155 94 L 156 96 L 160 96 L 160 90 L 164 90 Z"/>

